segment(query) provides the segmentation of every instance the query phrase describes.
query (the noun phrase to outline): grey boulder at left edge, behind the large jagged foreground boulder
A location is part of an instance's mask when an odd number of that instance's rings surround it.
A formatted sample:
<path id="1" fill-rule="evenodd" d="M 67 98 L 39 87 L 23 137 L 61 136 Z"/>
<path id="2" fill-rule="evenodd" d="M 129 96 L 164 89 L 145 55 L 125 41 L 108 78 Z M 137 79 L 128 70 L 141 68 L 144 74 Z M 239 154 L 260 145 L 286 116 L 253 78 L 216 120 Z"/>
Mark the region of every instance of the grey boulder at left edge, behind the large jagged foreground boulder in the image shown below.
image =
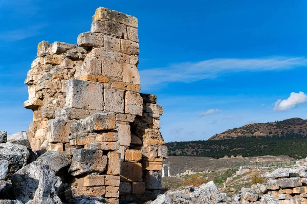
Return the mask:
<path id="1" fill-rule="evenodd" d="M 0 160 L 9 162 L 8 176 L 26 166 L 29 155 L 26 146 L 12 143 L 0 144 Z"/>

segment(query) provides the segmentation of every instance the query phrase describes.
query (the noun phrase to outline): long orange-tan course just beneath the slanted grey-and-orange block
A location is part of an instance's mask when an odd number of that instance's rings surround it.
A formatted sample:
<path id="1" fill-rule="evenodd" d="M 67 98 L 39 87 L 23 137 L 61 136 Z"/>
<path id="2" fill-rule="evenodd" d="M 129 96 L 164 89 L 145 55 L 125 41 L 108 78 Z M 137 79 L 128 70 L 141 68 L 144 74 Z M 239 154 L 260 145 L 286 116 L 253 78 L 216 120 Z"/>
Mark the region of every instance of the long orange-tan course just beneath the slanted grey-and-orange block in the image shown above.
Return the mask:
<path id="1" fill-rule="evenodd" d="M 80 133 L 73 134 L 68 139 L 73 146 L 82 146 L 93 142 L 116 142 L 118 141 L 118 133 L 116 131 Z"/>

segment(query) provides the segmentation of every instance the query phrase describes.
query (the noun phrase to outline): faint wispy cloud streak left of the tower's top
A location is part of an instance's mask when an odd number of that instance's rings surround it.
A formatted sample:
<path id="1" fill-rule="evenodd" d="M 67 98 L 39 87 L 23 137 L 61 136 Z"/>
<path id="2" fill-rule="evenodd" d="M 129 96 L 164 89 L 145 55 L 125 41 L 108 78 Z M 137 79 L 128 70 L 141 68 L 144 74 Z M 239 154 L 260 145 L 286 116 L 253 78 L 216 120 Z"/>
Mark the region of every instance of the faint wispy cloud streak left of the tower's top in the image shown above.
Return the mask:
<path id="1" fill-rule="evenodd" d="M 29 26 L 24 29 L 8 30 L 0 32 L 0 41 L 16 41 L 41 34 L 46 25 Z"/>

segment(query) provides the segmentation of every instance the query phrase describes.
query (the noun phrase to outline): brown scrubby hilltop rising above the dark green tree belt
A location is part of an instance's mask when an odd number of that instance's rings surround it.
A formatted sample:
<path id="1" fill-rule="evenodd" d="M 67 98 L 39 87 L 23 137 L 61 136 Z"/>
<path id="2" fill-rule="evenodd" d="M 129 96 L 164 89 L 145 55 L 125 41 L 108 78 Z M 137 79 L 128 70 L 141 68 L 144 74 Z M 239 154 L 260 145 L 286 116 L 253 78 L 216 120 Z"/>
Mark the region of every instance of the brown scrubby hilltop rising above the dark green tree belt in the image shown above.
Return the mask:
<path id="1" fill-rule="evenodd" d="M 291 118 L 274 123 L 251 123 L 213 135 L 209 140 L 225 140 L 237 137 L 287 137 L 307 134 L 307 120 Z"/>

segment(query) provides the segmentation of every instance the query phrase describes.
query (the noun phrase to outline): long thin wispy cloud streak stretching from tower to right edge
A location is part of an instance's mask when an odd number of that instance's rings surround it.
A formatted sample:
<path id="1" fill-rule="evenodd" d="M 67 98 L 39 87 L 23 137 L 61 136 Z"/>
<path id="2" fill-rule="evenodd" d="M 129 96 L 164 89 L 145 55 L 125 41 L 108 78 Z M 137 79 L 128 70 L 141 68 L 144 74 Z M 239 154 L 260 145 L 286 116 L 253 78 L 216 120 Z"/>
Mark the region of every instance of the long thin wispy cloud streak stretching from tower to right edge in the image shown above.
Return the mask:
<path id="1" fill-rule="evenodd" d="M 217 58 L 200 62 L 170 64 L 167 67 L 140 71 L 142 87 L 169 82 L 194 82 L 234 72 L 272 71 L 307 66 L 305 57 Z"/>

